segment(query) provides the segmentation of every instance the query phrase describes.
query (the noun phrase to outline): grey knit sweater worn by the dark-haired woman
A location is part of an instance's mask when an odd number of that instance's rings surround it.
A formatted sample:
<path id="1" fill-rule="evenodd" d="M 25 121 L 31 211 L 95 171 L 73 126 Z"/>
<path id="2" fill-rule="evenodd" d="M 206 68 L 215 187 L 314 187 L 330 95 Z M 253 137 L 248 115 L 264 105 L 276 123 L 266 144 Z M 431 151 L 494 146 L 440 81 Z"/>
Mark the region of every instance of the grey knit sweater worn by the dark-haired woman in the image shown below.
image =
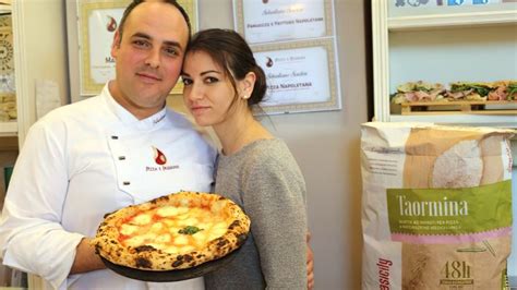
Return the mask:
<path id="1" fill-rule="evenodd" d="M 260 140 L 220 155 L 215 191 L 244 209 L 251 234 L 228 265 L 205 276 L 206 289 L 306 289 L 305 182 L 287 145 Z"/>

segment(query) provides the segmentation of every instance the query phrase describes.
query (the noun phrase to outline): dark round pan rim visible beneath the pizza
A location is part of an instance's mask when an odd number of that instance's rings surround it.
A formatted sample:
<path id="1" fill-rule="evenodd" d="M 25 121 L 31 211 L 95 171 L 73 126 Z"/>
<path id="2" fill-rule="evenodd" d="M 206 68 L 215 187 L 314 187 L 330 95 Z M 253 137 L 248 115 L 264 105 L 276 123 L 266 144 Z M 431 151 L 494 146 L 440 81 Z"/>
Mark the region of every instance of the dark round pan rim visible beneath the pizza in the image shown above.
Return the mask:
<path id="1" fill-rule="evenodd" d="M 193 279 L 206 275 L 228 264 L 236 255 L 239 254 L 240 249 L 241 247 L 218 259 L 209 261 L 192 268 L 177 270 L 142 270 L 113 264 L 103 256 L 100 256 L 100 258 L 103 259 L 106 267 L 124 277 L 142 281 L 171 282 Z"/>

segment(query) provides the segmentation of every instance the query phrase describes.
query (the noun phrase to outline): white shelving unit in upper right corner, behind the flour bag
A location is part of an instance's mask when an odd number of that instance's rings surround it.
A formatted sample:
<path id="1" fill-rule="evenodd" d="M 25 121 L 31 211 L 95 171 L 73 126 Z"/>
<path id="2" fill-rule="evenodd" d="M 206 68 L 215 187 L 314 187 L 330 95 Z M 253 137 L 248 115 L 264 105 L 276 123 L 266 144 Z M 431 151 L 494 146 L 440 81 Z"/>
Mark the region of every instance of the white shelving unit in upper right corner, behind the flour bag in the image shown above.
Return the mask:
<path id="1" fill-rule="evenodd" d="M 516 58 L 515 37 L 509 37 L 516 29 L 517 2 L 397 8 L 394 1 L 372 0 L 375 120 L 517 128 L 517 116 L 510 114 L 515 111 L 401 116 L 390 112 L 386 97 L 398 84 L 414 76 L 443 84 L 515 78 L 515 70 L 508 63 Z"/>

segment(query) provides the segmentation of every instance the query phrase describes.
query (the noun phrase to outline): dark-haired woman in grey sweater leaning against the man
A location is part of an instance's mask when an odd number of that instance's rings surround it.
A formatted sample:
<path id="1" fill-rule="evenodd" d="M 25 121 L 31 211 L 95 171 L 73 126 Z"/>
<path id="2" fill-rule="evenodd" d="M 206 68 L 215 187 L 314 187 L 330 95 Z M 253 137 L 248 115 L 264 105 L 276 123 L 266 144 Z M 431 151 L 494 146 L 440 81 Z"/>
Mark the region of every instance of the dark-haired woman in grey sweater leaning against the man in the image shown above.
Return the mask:
<path id="1" fill-rule="evenodd" d="M 236 32 L 194 35 L 183 63 L 183 99 L 220 141 L 216 189 L 251 219 L 236 258 L 205 276 L 207 289 L 306 289 L 305 183 L 286 144 L 253 118 L 264 71 Z"/>

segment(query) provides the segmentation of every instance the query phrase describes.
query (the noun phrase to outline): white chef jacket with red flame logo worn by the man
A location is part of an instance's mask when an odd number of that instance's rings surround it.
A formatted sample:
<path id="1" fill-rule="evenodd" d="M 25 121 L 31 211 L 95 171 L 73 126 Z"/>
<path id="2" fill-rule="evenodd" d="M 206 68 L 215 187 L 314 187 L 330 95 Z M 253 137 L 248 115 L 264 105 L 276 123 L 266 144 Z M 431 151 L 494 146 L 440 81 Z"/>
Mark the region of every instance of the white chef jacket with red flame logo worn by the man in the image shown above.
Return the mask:
<path id="1" fill-rule="evenodd" d="M 95 237 L 106 213 L 209 191 L 215 156 L 183 116 L 163 109 L 137 120 L 108 86 L 49 112 L 31 128 L 14 167 L 0 220 L 3 264 L 60 289 L 202 289 L 202 279 L 147 283 L 109 269 L 68 275 L 76 245 Z"/>

